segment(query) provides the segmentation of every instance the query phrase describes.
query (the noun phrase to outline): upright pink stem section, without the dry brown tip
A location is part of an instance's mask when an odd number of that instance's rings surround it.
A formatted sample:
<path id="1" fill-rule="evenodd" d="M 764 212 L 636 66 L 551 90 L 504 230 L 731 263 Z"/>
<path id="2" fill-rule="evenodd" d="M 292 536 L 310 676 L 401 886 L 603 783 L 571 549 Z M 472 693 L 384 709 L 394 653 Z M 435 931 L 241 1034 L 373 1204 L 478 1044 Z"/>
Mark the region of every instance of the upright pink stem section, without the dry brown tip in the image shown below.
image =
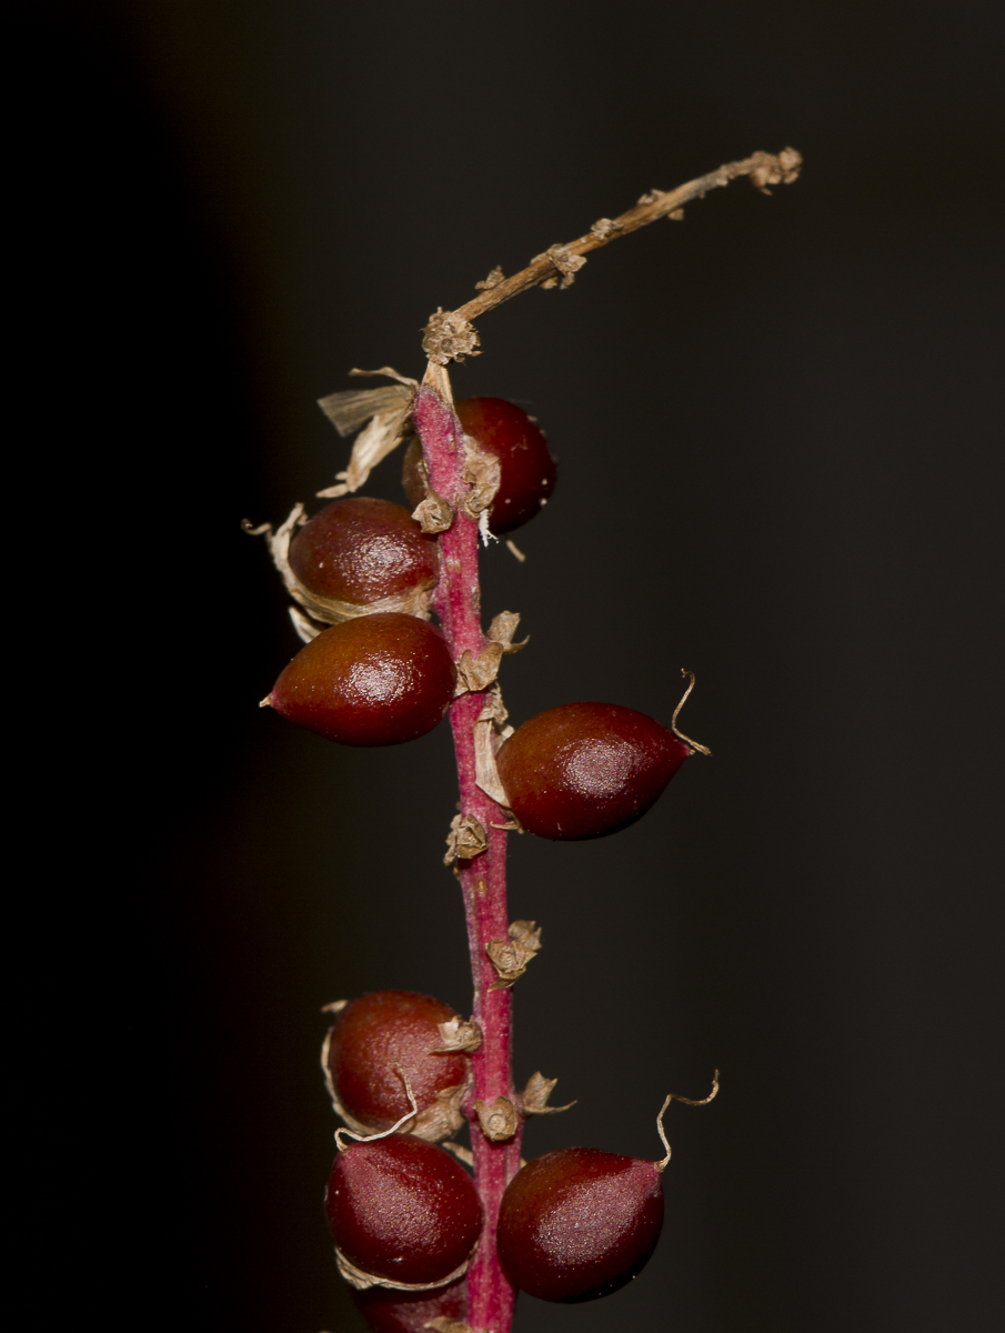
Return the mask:
<path id="1" fill-rule="evenodd" d="M 432 369 L 432 368 L 431 368 Z M 461 473 L 461 428 L 449 401 L 445 372 L 432 372 L 420 389 L 413 413 L 423 444 L 429 485 L 455 509 L 453 523 L 440 536 L 443 576 L 433 601 L 455 661 L 471 651 L 479 657 L 485 647 L 481 632 L 479 589 L 479 525 L 460 508 L 469 487 Z M 516 1292 L 504 1277 L 496 1254 L 496 1220 L 508 1182 L 520 1168 L 522 1118 L 512 1138 L 492 1142 L 481 1132 L 476 1101 L 492 1105 L 505 1097 L 517 1105 L 512 1073 L 513 997 L 509 989 L 493 989 L 497 981 L 485 945 L 508 940 L 506 834 L 496 825 L 506 812 L 475 781 L 475 724 L 485 704 L 484 692 L 461 694 L 451 705 L 451 728 L 457 756 L 461 813 L 473 816 L 485 830 L 488 848 L 473 860 L 457 862 L 468 920 L 473 1017 L 481 1029 L 481 1045 L 472 1054 L 475 1089 L 465 1108 L 475 1154 L 475 1182 L 485 1209 L 481 1241 L 468 1269 L 468 1324 L 477 1333 L 509 1333 Z"/>

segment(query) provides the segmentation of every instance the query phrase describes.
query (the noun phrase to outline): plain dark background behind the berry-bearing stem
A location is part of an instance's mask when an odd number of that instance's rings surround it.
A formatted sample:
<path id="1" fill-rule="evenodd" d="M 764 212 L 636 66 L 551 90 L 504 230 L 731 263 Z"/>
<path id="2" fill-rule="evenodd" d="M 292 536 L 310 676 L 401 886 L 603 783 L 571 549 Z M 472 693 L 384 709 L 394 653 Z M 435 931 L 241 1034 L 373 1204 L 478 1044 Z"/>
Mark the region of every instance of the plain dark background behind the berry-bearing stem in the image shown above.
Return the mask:
<path id="1" fill-rule="evenodd" d="M 352 365 L 420 375 L 429 312 L 492 265 L 793 144 L 796 185 L 605 249 L 487 316 L 455 375 L 560 459 L 526 564 L 485 557 L 487 611 L 532 636 L 514 720 L 666 720 L 689 666 L 714 750 L 614 838 L 514 840 L 512 914 L 546 945 L 517 1076 L 578 1098 L 528 1152 L 656 1157 L 664 1093 L 722 1069 L 669 1113 L 645 1274 L 517 1326 L 997 1328 L 1000 4 L 4 13 L 55 520 L 31 549 L 76 636 L 39 880 L 71 962 L 35 970 L 76 1016 L 73 1244 L 103 1218 L 60 1326 L 357 1333 L 319 1008 L 469 1002 L 448 733 L 351 752 L 259 712 L 297 644 L 239 520 L 331 483 L 315 399 Z"/>

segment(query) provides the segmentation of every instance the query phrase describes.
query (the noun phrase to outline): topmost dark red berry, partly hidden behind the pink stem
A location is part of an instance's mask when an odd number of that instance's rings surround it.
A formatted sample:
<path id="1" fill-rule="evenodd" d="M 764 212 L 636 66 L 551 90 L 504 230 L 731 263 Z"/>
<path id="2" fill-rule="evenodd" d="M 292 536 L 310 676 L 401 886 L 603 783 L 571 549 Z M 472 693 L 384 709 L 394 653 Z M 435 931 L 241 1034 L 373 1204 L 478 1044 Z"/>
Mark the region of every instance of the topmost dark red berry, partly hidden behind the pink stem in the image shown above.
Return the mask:
<path id="1" fill-rule="evenodd" d="M 528 523 L 554 491 L 556 465 L 548 441 L 522 408 L 505 399 L 463 399 L 455 408 L 461 429 L 484 453 L 499 459 L 500 484 L 489 529 L 501 536 Z M 403 483 L 413 505 L 425 496 L 423 451 L 405 452 Z"/>

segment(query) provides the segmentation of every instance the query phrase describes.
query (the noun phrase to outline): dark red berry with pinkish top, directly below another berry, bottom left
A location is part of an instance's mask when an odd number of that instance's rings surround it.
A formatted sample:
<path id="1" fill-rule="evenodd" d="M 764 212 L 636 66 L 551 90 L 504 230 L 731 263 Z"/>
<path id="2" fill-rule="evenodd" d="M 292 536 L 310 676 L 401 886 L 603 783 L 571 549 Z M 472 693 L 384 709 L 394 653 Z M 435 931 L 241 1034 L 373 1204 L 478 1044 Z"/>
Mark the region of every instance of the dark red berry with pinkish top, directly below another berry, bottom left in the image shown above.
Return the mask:
<path id="1" fill-rule="evenodd" d="M 340 1152 L 325 1212 L 335 1244 L 351 1264 L 407 1286 L 455 1273 L 475 1249 L 483 1216 L 461 1164 L 413 1134 Z"/>

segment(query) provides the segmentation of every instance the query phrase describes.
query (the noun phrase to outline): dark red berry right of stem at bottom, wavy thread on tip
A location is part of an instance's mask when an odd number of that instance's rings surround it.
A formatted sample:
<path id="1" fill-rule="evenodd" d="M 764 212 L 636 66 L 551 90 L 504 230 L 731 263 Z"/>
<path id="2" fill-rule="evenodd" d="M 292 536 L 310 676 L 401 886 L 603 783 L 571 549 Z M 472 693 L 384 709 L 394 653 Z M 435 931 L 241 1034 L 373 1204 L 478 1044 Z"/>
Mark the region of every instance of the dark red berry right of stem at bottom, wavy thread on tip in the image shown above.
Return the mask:
<path id="1" fill-rule="evenodd" d="M 654 1162 L 593 1148 L 545 1153 L 517 1172 L 502 1196 L 502 1272 L 542 1301 L 609 1296 L 649 1261 L 662 1213 Z"/>

